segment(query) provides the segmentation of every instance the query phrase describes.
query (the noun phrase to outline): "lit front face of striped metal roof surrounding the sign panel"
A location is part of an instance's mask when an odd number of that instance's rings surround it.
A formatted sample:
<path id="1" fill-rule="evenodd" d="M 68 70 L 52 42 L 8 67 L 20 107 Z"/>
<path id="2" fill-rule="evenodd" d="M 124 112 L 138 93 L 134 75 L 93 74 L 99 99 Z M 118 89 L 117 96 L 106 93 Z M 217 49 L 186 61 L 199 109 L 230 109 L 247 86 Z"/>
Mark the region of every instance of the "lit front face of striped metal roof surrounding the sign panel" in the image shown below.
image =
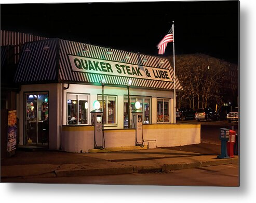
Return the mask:
<path id="1" fill-rule="evenodd" d="M 159 81 L 159 80 L 146 80 L 142 78 L 129 78 L 129 77 L 119 77 L 114 75 L 99 75 L 92 74 L 89 72 L 76 72 L 72 71 L 72 68 L 69 64 L 68 54 L 76 56 L 85 56 L 92 59 L 107 60 L 113 62 L 128 63 L 133 65 L 139 65 L 143 67 L 156 67 L 161 69 L 169 69 L 171 72 L 171 79 L 173 81 L 173 70 L 170 66 L 170 63 L 167 59 L 144 55 L 140 53 L 132 53 L 123 50 L 111 49 L 112 54 L 106 53 L 106 48 L 86 45 L 88 52 L 83 52 L 83 47 L 86 44 L 80 42 L 60 40 L 60 69 L 59 69 L 59 78 L 61 81 L 69 82 L 89 82 L 89 83 L 100 83 L 104 78 L 106 83 L 114 85 L 125 85 L 129 79 L 132 80 L 132 86 L 138 86 L 142 88 L 152 88 L 152 89 L 174 89 L 174 83 L 170 81 Z M 126 59 L 125 56 L 129 55 L 130 59 Z M 144 62 L 142 59 L 146 59 Z M 161 60 L 164 63 L 159 63 Z M 179 80 L 176 79 L 176 89 L 182 90 L 182 87 L 179 83 Z"/>

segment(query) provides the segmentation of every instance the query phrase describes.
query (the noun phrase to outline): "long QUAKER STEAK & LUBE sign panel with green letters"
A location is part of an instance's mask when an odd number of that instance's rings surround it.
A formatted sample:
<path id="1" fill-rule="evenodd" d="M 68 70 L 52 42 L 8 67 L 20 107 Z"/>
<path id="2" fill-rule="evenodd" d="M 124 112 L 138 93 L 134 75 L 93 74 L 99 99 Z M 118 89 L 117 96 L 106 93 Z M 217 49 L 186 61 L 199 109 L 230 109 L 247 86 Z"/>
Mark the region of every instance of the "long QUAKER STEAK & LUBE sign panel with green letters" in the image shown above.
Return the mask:
<path id="1" fill-rule="evenodd" d="M 144 67 L 113 61 L 68 55 L 73 71 L 172 82 L 169 69 Z"/>

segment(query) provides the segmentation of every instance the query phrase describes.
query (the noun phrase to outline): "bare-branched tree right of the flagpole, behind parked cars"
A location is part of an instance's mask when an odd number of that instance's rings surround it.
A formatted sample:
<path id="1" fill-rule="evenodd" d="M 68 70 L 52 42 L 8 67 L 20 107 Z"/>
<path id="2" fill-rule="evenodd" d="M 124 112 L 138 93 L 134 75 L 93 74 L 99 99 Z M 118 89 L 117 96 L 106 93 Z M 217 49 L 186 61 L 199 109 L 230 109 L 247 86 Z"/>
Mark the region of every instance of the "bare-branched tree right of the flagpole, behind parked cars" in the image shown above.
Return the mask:
<path id="1" fill-rule="evenodd" d="M 177 94 L 178 108 L 215 109 L 215 105 L 220 107 L 225 102 L 230 63 L 205 54 L 176 55 L 175 62 L 176 75 L 184 90 Z"/>

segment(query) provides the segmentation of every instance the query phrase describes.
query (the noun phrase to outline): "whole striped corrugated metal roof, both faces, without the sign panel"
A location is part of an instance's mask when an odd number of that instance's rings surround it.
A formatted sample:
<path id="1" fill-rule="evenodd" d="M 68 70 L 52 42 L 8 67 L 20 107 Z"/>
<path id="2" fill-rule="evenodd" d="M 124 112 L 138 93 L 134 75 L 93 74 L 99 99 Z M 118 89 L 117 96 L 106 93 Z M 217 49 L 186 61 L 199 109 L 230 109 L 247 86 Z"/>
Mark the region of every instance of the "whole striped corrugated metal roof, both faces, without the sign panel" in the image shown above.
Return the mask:
<path id="1" fill-rule="evenodd" d="M 43 50 L 45 45 L 48 45 L 48 50 Z M 174 84 L 171 82 L 173 81 L 173 70 L 167 59 L 115 49 L 111 49 L 112 54 L 107 54 L 106 48 L 94 45 L 87 45 L 89 51 L 83 52 L 82 49 L 84 45 L 85 44 L 80 42 L 61 39 L 48 39 L 25 44 L 21 60 L 18 65 L 18 70 L 16 72 L 15 81 L 22 83 L 59 81 L 99 84 L 102 79 L 105 79 L 108 84 L 125 85 L 128 80 L 131 79 L 132 86 L 140 88 L 174 89 Z M 24 51 L 27 47 L 30 49 L 29 52 Z M 142 68 L 152 67 L 169 69 L 171 80 L 148 80 L 134 77 L 120 77 L 116 75 L 93 74 L 85 71 L 73 71 L 68 55 L 85 56 L 91 59 L 127 63 Z M 125 58 L 127 55 L 130 56 L 130 59 Z M 144 62 L 142 59 L 147 59 L 147 61 Z M 161 60 L 163 60 L 164 63 L 159 63 Z M 176 89 L 182 90 L 178 80 L 176 83 Z"/>

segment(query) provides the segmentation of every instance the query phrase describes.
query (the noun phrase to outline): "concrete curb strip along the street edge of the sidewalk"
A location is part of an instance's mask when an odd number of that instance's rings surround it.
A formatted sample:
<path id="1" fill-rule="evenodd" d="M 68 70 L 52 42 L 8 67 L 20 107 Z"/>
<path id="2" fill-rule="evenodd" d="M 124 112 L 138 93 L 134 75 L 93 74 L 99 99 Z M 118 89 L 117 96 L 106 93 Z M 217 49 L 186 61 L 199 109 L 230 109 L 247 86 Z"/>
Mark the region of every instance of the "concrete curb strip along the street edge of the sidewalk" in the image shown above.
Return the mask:
<path id="1" fill-rule="evenodd" d="M 180 170 L 189 168 L 199 168 L 206 166 L 237 164 L 239 163 L 239 157 L 218 159 L 216 156 L 200 157 L 195 156 L 197 160 L 176 162 L 173 164 L 167 164 L 167 161 L 160 163 L 144 163 L 138 165 L 135 162 L 129 163 L 113 163 L 104 162 L 99 163 L 97 166 L 88 164 L 65 164 L 65 165 L 51 165 L 51 164 L 39 164 L 39 165 L 16 165 L 16 166 L 4 166 L 1 168 L 1 178 L 13 178 L 13 177 L 77 177 L 77 176 L 101 176 L 101 175 L 120 175 L 128 173 L 143 173 L 152 171 L 166 171 L 166 170 Z M 138 162 L 138 161 L 137 161 Z M 174 159 L 171 160 L 174 162 Z M 127 165 L 126 165 L 127 164 Z M 34 171 L 30 172 L 28 168 L 34 168 Z"/>

